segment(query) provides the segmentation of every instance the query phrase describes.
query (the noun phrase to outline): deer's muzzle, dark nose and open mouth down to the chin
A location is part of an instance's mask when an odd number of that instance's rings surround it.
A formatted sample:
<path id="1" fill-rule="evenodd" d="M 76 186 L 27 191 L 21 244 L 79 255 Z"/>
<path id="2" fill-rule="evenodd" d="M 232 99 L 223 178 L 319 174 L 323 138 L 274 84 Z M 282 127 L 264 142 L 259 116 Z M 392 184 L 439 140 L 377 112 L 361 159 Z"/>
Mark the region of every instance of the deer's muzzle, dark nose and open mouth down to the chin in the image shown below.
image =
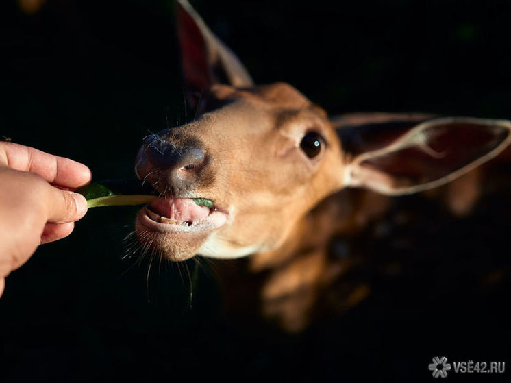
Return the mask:
<path id="1" fill-rule="evenodd" d="M 136 158 L 135 172 L 160 197 L 138 212 L 136 228 L 142 243 L 170 260 L 197 254 L 213 232 L 227 223 L 229 214 L 211 195 L 201 195 L 208 174 L 208 156 L 196 139 L 169 129 L 147 138 Z M 208 199 L 201 206 L 197 200 Z"/>

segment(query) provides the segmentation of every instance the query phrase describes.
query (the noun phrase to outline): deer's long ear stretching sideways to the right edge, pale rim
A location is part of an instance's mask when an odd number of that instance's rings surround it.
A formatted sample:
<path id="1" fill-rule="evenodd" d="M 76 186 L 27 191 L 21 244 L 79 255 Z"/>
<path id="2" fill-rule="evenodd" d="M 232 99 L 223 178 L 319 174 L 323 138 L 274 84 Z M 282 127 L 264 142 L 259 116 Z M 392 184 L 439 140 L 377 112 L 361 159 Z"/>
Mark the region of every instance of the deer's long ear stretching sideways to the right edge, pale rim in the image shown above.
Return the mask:
<path id="1" fill-rule="evenodd" d="M 511 122 L 469 117 L 371 124 L 338 130 L 347 153 L 344 186 L 386 195 L 445 184 L 497 156 Z"/>

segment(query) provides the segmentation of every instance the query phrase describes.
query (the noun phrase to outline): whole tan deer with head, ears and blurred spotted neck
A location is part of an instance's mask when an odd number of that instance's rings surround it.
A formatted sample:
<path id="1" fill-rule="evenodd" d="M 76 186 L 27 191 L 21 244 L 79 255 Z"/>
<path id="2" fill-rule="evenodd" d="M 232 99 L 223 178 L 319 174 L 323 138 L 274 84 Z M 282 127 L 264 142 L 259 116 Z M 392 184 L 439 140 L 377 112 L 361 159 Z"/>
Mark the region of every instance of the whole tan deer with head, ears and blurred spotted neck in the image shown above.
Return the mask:
<path id="1" fill-rule="evenodd" d="M 290 84 L 255 85 L 245 66 L 186 0 L 176 1 L 193 121 L 145 138 L 135 173 L 160 194 L 138 211 L 136 233 L 163 259 L 241 262 L 225 290 L 297 332 L 316 294 L 349 267 L 332 262 L 336 236 L 383 214 L 393 196 L 477 182 L 477 168 L 511 142 L 504 119 L 422 113 L 331 117 Z M 476 193 L 477 194 L 477 193 Z M 199 206 L 192 199 L 206 199 Z M 470 193 L 465 211 L 475 196 Z M 362 288 L 347 306 L 367 295 Z M 227 299 L 229 300 L 229 299 Z M 232 299 L 236 301 L 236 298 Z M 242 305 L 242 304 L 240 304 Z"/>

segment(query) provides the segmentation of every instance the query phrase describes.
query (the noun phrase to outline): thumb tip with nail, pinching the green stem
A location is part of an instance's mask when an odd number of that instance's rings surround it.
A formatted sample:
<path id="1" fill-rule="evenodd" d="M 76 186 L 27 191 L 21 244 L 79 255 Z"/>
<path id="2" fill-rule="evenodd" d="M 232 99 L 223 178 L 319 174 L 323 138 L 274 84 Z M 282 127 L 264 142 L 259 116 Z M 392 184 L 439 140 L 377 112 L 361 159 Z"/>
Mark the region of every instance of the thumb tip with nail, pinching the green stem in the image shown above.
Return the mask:
<path id="1" fill-rule="evenodd" d="M 79 220 L 87 212 L 87 201 L 79 193 L 50 186 L 48 222 L 68 223 Z"/>

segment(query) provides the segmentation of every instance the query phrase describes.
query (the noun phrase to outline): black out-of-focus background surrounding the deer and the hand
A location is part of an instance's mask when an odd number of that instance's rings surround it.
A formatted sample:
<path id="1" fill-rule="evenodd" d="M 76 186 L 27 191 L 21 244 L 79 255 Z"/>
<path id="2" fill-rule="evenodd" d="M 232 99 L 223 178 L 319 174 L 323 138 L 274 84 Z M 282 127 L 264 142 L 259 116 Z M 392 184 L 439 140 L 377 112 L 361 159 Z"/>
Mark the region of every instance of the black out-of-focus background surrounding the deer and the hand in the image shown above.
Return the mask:
<path id="1" fill-rule="evenodd" d="M 256 82 L 289 82 L 332 114 L 509 119 L 506 3 L 192 1 Z M 132 176 L 142 138 L 185 118 L 172 5 L 48 0 L 31 14 L 3 1 L 0 135 L 84 162 L 96 180 Z M 397 199 L 414 219 L 379 241 L 360 238 L 378 260 L 361 271 L 369 299 L 294 336 L 225 317 L 210 267 L 188 262 L 192 281 L 185 265 L 153 265 L 147 277 L 147 258 L 121 260 L 136 208 L 91 210 L 8 277 L 0 381 L 428 382 L 437 355 L 511 368 L 503 184 L 466 219 Z M 401 271 L 380 273 L 386 257 Z"/>

